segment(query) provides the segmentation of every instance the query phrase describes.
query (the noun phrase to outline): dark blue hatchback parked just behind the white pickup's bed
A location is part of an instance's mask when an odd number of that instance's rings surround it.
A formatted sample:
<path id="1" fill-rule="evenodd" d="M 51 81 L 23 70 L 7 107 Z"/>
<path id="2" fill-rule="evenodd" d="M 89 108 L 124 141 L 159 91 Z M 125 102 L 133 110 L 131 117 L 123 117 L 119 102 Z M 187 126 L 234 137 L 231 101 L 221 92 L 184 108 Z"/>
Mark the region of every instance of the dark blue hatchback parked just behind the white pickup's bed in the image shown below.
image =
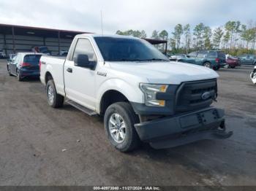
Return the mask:
<path id="1" fill-rule="evenodd" d="M 25 77 L 39 77 L 39 60 L 43 54 L 19 52 L 7 66 L 10 76 L 16 76 L 18 81 Z"/>

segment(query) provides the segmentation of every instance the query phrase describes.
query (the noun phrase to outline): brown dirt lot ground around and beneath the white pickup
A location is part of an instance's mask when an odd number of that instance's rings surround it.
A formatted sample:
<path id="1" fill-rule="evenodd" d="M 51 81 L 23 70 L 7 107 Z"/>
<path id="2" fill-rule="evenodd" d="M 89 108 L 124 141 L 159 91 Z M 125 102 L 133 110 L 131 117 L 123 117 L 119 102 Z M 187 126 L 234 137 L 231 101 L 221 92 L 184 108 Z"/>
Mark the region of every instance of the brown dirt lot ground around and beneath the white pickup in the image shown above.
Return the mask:
<path id="1" fill-rule="evenodd" d="M 124 154 L 108 143 L 100 117 L 69 105 L 50 108 L 39 80 L 18 82 L 1 60 L 0 185 L 256 185 L 250 71 L 218 71 L 215 105 L 226 111 L 230 139 L 162 150 L 143 144 Z"/>

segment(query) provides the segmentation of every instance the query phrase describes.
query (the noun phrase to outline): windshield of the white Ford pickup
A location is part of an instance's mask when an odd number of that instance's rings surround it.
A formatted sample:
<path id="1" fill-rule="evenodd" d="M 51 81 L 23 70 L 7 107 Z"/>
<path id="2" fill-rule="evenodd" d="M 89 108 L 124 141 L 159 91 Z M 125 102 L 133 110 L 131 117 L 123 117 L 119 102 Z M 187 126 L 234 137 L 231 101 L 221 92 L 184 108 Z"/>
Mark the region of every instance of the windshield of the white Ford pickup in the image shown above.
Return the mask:
<path id="1" fill-rule="evenodd" d="M 169 61 L 143 39 L 94 37 L 105 61 Z"/>

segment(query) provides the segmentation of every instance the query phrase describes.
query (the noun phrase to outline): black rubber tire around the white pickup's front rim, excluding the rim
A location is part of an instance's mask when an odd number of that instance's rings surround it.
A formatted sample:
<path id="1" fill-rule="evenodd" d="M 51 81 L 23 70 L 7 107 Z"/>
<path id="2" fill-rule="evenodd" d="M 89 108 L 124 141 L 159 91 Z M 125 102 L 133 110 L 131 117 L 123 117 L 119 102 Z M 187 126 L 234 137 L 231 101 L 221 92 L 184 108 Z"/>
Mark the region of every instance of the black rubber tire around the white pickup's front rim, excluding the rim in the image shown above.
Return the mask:
<path id="1" fill-rule="evenodd" d="M 118 143 L 115 139 L 113 139 L 110 133 L 110 117 L 115 114 L 118 114 L 121 117 L 121 120 L 123 120 L 124 125 L 126 126 L 124 129 L 125 133 L 123 131 L 125 137 L 121 143 Z M 135 130 L 134 125 L 138 122 L 138 116 L 135 114 L 132 106 L 129 103 L 118 102 L 108 106 L 108 109 L 104 115 L 104 128 L 110 143 L 121 152 L 129 152 L 136 149 L 140 144 L 140 138 Z M 119 131 L 121 131 L 121 128 Z"/>

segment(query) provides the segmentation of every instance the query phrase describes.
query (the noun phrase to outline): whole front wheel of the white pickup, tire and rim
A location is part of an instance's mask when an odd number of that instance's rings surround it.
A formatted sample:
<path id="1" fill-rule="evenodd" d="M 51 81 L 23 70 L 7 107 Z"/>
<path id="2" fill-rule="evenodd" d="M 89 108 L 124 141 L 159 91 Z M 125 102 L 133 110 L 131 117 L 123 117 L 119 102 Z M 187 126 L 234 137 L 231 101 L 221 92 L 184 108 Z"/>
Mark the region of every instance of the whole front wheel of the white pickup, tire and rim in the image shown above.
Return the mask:
<path id="1" fill-rule="evenodd" d="M 121 152 L 129 152 L 138 147 L 140 139 L 134 127 L 138 122 L 138 116 L 129 103 L 110 105 L 104 116 L 104 127 L 110 143 Z"/>

